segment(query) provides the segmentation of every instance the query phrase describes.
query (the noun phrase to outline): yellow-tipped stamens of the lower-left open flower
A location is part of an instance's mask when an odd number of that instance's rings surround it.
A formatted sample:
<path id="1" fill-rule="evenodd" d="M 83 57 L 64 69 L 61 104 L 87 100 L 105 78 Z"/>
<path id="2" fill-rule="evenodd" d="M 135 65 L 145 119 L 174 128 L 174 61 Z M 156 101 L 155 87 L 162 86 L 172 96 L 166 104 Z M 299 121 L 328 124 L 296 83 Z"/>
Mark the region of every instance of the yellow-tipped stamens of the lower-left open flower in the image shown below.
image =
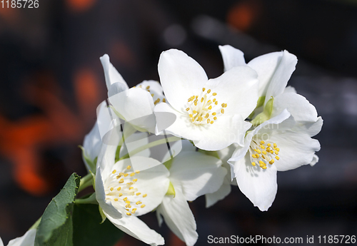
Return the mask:
<path id="1" fill-rule="evenodd" d="M 130 170 L 130 165 L 121 173 L 113 170 L 105 184 L 106 200 L 110 200 L 119 211 L 126 210 L 128 216 L 134 214 L 137 209 L 145 207 L 141 199 L 147 196 L 135 188 L 135 183 L 138 181 L 136 175 L 140 171 L 131 172 Z"/>

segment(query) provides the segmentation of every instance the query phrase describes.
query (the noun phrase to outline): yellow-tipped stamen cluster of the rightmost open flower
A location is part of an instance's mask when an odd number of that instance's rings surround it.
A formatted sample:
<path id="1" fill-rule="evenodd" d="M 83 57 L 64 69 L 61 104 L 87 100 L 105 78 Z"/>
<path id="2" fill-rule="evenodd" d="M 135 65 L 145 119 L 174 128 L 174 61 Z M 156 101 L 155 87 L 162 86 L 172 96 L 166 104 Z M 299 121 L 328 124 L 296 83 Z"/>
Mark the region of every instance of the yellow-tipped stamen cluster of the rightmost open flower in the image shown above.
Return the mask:
<path id="1" fill-rule="evenodd" d="M 276 160 L 280 159 L 278 157 L 279 151 L 280 148 L 278 148 L 276 143 L 266 143 L 263 140 L 260 142 L 251 140 L 251 145 L 249 147 L 249 153 L 251 154 L 251 165 L 255 166 L 258 164 L 259 167 L 266 169 L 267 163 L 270 165 L 274 163 L 274 157 Z"/>

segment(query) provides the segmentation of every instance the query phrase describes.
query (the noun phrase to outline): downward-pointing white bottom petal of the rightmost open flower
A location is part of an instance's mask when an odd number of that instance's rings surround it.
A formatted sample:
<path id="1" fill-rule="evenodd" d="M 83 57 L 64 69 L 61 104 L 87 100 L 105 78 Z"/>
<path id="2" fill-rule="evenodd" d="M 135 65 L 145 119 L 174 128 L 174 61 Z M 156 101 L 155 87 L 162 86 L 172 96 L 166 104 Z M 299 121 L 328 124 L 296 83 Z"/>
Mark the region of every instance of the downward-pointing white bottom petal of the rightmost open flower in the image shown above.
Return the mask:
<path id="1" fill-rule="evenodd" d="M 261 211 L 268 210 L 273 203 L 278 190 L 276 183 L 276 166 L 268 165 L 265 170 L 258 165 L 251 165 L 247 154 L 235 163 L 235 173 L 238 187 L 255 207 Z"/>

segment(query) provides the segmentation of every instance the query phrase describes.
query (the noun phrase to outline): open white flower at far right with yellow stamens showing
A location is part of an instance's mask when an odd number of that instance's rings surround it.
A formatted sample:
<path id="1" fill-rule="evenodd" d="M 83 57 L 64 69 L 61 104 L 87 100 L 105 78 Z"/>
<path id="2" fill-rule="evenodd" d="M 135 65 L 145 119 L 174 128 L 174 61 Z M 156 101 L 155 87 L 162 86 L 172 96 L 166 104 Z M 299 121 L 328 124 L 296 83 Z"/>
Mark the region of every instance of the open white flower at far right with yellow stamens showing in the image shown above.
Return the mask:
<path id="1" fill-rule="evenodd" d="M 287 110 L 248 132 L 244 147 L 238 146 L 232 158 L 231 178 L 254 206 L 266 211 L 276 196 L 276 172 L 313 162 L 320 150 L 318 140 L 298 128 Z"/>

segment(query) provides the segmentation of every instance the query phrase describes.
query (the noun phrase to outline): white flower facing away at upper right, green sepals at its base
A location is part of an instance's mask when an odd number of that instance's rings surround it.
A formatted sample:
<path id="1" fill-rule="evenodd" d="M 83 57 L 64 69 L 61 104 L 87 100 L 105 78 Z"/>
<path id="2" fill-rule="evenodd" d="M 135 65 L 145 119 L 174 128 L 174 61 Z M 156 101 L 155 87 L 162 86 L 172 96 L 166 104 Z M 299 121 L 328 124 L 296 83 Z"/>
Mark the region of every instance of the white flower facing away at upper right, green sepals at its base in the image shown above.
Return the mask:
<path id="1" fill-rule="evenodd" d="M 226 45 L 219 46 L 219 49 L 225 70 L 243 66 L 246 63 L 243 52 L 237 48 Z M 257 108 L 263 106 L 265 111 L 259 113 L 261 110 L 256 109 L 255 118 L 251 121 L 253 125 L 278 116 L 287 108 L 296 121 L 295 127 L 291 130 L 302 130 L 311 137 L 320 132 L 323 120 L 318 117 L 316 108 L 306 98 L 297 94 L 293 87 L 286 87 L 291 74 L 295 71 L 297 61 L 296 56 L 288 51 L 280 51 L 258 56 L 246 64 L 258 73 L 259 100 Z M 273 102 L 271 108 L 266 110 L 265 107 L 269 100 L 273 100 Z M 311 165 L 315 165 L 317 161 L 318 157 L 315 155 Z"/>

